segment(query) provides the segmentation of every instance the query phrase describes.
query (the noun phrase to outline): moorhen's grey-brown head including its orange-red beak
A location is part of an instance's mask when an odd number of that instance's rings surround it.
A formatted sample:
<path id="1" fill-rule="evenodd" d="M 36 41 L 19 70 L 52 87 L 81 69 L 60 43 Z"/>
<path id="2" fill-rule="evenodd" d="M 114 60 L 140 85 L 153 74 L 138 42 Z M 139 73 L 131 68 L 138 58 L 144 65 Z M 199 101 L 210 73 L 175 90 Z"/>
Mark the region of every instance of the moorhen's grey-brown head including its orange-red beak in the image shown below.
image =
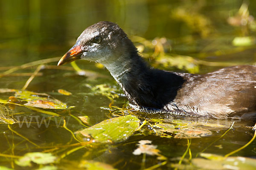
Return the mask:
<path id="1" fill-rule="evenodd" d="M 86 28 L 75 45 L 59 60 L 64 65 L 77 59 L 99 62 L 103 65 L 118 59 L 128 40 L 124 31 L 115 23 L 101 21 Z"/>

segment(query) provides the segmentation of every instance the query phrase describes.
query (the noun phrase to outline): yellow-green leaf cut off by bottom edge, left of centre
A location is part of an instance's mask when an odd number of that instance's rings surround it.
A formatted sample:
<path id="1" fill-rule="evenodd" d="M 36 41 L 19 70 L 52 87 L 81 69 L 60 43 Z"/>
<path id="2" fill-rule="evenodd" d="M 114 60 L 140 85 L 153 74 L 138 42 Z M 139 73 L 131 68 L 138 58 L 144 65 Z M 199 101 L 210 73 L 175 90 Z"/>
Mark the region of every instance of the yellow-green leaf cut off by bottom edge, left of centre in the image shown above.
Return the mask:
<path id="1" fill-rule="evenodd" d="M 83 160 L 79 164 L 80 168 L 86 168 L 86 170 L 117 170 L 109 164 L 105 164 L 97 161 Z"/>

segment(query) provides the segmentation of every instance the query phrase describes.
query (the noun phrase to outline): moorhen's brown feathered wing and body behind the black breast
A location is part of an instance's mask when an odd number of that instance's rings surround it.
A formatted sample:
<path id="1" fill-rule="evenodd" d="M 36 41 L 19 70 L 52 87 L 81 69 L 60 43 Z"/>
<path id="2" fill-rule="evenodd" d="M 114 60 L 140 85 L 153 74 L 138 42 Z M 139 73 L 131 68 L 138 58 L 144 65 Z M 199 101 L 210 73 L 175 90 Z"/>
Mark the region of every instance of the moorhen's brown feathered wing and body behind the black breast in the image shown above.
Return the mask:
<path id="1" fill-rule="evenodd" d="M 216 118 L 256 111 L 256 66 L 233 66 L 183 77 L 187 81 L 174 100 L 180 110 Z"/>

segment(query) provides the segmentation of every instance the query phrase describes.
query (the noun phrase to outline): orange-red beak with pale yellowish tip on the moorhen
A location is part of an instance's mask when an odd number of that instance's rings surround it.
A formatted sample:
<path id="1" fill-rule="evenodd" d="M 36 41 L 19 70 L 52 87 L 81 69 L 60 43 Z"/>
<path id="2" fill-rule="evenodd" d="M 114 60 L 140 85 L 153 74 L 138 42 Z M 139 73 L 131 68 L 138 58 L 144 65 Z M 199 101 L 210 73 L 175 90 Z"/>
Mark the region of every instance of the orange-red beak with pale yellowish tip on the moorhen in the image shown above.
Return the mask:
<path id="1" fill-rule="evenodd" d="M 80 41 L 76 42 L 76 44 L 69 51 L 67 51 L 67 53 L 64 54 L 63 57 L 61 57 L 58 62 L 58 66 L 80 59 L 80 54 L 82 53 L 82 50 L 79 42 Z"/>

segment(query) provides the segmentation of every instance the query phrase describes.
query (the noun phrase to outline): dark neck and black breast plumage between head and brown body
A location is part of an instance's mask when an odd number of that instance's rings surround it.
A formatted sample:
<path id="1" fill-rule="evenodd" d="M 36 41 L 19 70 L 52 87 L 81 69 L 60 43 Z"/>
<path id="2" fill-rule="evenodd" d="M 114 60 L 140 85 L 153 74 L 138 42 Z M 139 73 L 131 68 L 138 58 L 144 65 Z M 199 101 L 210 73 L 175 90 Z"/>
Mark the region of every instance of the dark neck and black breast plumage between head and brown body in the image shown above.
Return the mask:
<path id="1" fill-rule="evenodd" d="M 183 78 L 175 73 L 150 68 L 132 42 L 111 64 L 105 65 L 133 105 L 163 108 L 172 102 Z"/>

